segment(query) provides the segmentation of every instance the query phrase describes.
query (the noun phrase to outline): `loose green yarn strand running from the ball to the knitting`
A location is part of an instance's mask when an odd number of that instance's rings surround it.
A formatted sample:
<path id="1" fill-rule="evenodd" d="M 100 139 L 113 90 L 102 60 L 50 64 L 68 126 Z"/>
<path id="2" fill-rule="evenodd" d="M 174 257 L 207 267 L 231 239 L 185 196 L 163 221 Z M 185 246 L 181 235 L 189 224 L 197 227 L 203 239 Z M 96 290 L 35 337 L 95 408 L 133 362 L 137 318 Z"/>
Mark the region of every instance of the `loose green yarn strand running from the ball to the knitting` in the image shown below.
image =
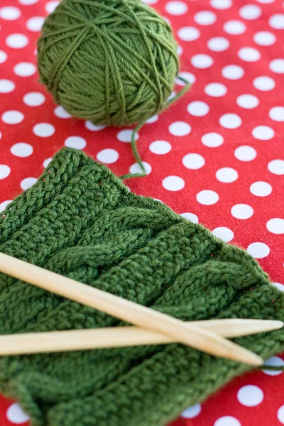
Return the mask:
<path id="1" fill-rule="evenodd" d="M 180 99 L 191 87 L 191 83 L 187 82 L 187 80 L 185 80 L 184 78 L 178 77 L 178 79 L 185 83 L 185 87 L 183 89 L 181 89 L 180 92 L 178 92 L 178 94 L 175 94 L 175 96 L 167 102 L 165 109 L 168 109 L 168 107 L 170 107 L 171 104 L 173 104 L 175 101 Z M 165 111 L 165 109 L 164 109 L 164 111 Z M 141 173 L 127 173 L 126 175 L 122 175 L 122 176 L 120 176 L 121 180 L 132 179 L 132 178 L 143 178 L 144 176 L 147 175 L 146 168 L 143 165 L 143 161 L 141 160 L 140 154 L 138 153 L 138 148 L 137 148 L 137 143 L 136 143 L 136 134 L 138 133 L 138 131 L 140 129 L 142 129 L 142 127 L 144 126 L 146 121 L 147 120 L 144 120 L 140 124 L 138 124 L 138 126 L 136 126 L 135 129 L 133 129 L 132 135 L 131 135 L 132 153 L 133 153 L 134 157 L 136 158 L 137 163 L 140 166 L 142 171 L 141 171 Z"/>

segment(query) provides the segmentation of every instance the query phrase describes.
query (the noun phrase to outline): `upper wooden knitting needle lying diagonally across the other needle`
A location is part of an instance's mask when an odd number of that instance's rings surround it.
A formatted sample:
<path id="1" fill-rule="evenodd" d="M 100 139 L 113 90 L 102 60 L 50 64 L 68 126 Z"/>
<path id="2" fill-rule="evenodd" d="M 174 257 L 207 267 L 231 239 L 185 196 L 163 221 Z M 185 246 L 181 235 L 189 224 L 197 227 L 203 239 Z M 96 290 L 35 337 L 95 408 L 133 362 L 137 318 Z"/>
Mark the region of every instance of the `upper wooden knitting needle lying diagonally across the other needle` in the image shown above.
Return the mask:
<path id="1" fill-rule="evenodd" d="M 0 253 L 0 271 L 37 287 L 93 307 L 120 320 L 144 329 L 165 334 L 175 340 L 208 354 L 260 366 L 260 356 L 208 330 L 187 324 L 148 307 L 79 283 L 4 253 Z"/>

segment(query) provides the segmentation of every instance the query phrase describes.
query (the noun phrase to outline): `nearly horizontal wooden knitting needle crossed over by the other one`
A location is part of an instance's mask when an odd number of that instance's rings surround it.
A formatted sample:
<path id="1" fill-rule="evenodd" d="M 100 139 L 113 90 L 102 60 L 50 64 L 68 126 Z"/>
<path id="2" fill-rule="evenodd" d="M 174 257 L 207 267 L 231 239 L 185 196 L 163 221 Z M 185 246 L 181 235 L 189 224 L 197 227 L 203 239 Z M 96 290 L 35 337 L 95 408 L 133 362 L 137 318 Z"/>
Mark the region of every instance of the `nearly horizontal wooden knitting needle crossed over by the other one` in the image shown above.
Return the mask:
<path id="1" fill-rule="evenodd" d="M 223 337 L 246 336 L 283 327 L 282 321 L 271 320 L 209 320 L 195 321 L 194 324 Z M 0 336 L 0 356 L 83 351 L 173 342 L 175 342 L 173 339 L 164 334 L 138 327 L 107 327 L 62 332 L 9 334 Z"/>

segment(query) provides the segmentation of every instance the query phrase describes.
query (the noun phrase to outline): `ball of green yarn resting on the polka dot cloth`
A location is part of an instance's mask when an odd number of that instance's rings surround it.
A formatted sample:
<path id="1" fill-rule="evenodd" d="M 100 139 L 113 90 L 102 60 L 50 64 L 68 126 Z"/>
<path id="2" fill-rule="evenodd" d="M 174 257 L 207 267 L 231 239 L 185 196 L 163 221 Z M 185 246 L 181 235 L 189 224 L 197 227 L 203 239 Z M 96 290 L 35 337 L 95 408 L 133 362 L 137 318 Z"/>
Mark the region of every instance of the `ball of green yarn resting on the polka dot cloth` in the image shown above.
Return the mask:
<path id="1" fill-rule="evenodd" d="M 66 111 L 97 125 L 163 111 L 178 66 L 170 26 L 141 0 L 62 0 L 38 40 L 40 81 Z"/>

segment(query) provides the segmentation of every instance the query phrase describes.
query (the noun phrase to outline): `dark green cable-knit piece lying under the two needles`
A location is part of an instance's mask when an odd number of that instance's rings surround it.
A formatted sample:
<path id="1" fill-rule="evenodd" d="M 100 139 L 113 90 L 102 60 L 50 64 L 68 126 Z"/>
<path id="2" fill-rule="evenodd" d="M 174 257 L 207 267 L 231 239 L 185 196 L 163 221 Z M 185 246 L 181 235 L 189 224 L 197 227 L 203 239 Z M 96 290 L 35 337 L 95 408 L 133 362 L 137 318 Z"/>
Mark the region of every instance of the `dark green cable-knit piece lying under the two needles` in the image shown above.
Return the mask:
<path id="1" fill-rule="evenodd" d="M 258 263 L 111 171 L 60 151 L 0 220 L 0 251 L 181 320 L 284 320 Z M 113 317 L 0 275 L 0 333 L 108 327 Z M 236 339 L 264 358 L 278 330 Z M 162 426 L 250 367 L 181 344 L 0 359 L 0 388 L 40 426 Z"/>

